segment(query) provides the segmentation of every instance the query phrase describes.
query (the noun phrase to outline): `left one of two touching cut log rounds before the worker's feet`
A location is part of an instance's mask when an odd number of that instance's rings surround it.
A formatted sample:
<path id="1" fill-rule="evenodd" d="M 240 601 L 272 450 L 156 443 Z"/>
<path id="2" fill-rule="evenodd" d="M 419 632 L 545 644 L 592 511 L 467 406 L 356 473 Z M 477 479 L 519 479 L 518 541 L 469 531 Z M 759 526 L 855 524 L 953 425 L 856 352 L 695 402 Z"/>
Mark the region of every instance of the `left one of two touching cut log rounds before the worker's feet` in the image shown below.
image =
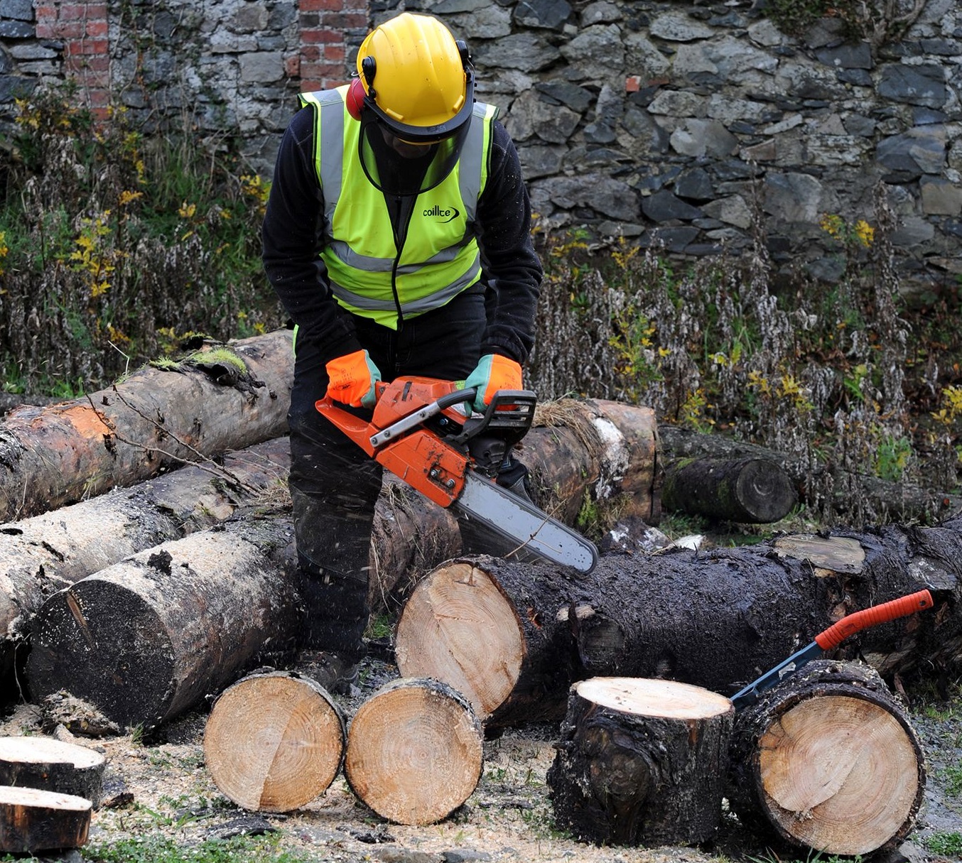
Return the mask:
<path id="1" fill-rule="evenodd" d="M 252 673 L 217 698 L 204 761 L 220 791 L 251 811 L 288 812 L 322 794 L 341 770 L 342 709 L 314 680 Z"/>

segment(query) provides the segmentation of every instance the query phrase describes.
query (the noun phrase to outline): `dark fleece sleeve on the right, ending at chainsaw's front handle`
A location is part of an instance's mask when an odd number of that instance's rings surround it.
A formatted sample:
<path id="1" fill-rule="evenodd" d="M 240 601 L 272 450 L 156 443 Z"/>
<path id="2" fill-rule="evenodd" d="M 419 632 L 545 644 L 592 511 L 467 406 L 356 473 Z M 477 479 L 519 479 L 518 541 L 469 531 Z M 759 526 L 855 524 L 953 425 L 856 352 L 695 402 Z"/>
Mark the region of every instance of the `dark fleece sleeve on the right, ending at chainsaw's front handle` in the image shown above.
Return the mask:
<path id="1" fill-rule="evenodd" d="M 524 363 L 534 345 L 544 270 L 531 241 L 531 203 L 518 151 L 497 121 L 477 219 L 483 278 L 489 284 L 481 353 L 499 353 Z"/>

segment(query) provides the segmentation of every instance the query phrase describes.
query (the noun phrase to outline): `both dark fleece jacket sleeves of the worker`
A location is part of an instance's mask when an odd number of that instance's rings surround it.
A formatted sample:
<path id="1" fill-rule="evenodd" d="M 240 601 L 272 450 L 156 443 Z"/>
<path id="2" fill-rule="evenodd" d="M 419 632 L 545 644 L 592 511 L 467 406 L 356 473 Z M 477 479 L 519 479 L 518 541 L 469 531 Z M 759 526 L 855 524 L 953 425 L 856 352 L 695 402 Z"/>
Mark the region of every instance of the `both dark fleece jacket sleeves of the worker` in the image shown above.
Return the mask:
<path id="1" fill-rule="evenodd" d="M 267 278 L 298 326 L 297 338 L 315 341 L 327 362 L 363 345 L 354 317 L 335 300 L 318 258 L 323 212 L 314 166 L 314 109 L 308 106 L 294 115 L 281 140 L 262 231 L 263 260 Z M 530 228 L 518 152 L 495 120 L 488 183 L 474 225 L 482 280 L 491 286 L 482 355 L 499 353 L 523 363 L 531 351 L 543 270 Z"/>

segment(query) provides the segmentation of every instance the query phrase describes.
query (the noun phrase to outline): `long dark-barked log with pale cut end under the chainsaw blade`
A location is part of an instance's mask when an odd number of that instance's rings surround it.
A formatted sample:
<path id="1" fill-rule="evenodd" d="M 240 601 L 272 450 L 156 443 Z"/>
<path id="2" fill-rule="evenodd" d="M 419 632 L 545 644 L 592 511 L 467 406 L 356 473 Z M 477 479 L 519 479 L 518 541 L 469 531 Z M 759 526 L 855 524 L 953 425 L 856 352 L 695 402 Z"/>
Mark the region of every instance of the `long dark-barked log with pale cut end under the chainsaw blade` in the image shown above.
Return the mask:
<path id="1" fill-rule="evenodd" d="M 860 632 L 838 655 L 860 651 L 888 675 L 962 666 L 962 522 L 792 539 L 608 555 L 581 578 L 484 556 L 448 561 L 405 604 L 398 669 L 449 683 L 489 726 L 559 719 L 570 683 L 594 676 L 730 696 L 846 614 L 923 588 L 934 609 Z"/>

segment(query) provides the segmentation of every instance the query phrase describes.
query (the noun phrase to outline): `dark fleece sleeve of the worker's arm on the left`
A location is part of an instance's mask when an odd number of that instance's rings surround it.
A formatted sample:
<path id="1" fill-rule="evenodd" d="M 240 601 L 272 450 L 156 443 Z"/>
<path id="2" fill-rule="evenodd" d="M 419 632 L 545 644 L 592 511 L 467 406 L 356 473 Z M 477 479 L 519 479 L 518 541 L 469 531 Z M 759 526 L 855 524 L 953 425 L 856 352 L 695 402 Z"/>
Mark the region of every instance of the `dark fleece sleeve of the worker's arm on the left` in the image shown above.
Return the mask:
<path id="1" fill-rule="evenodd" d="M 351 317 L 331 292 L 322 248 L 324 198 L 314 165 L 314 111 L 302 108 L 281 139 L 262 226 L 267 279 L 324 362 L 359 350 Z"/>

